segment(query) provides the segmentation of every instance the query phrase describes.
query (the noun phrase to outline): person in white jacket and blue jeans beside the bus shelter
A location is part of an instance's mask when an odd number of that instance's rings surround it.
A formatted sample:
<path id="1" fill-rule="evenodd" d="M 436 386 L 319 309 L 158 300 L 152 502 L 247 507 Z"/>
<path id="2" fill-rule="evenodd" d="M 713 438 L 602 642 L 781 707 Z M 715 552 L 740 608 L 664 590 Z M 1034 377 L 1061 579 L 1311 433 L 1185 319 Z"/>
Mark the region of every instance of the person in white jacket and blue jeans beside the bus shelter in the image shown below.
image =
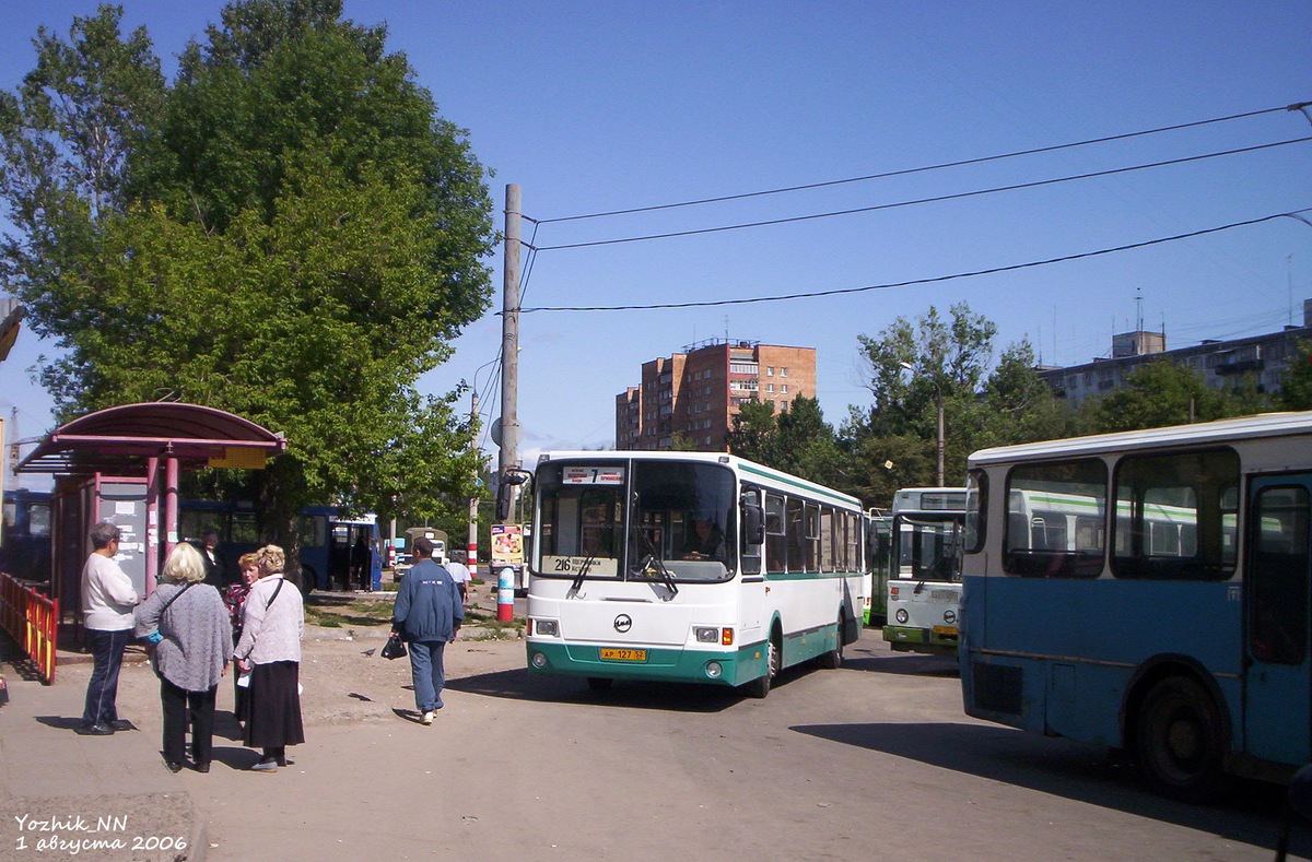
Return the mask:
<path id="1" fill-rule="evenodd" d="M 94 667 L 87 683 L 87 705 L 83 709 L 83 736 L 109 736 L 119 730 L 136 730 L 118 717 L 118 672 L 123 667 L 123 650 L 133 639 L 133 608 L 140 597 L 114 561 L 122 533 L 109 521 L 91 528 L 91 555 L 83 566 L 83 621 Z"/>

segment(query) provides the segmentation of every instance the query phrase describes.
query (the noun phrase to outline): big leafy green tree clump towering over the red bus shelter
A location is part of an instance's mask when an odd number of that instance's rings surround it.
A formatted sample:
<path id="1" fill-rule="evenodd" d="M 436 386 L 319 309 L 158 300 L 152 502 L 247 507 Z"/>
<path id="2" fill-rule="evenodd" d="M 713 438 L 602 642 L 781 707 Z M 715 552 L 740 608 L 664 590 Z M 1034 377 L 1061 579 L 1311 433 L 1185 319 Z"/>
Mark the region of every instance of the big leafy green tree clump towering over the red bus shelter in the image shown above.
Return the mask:
<path id="1" fill-rule="evenodd" d="M 62 411 L 169 397 L 286 432 L 252 490 L 289 545 L 311 502 L 449 514 L 472 485 L 471 430 L 458 393 L 415 384 L 491 293 L 464 132 L 340 0 L 226 7 L 171 86 L 119 18 L 75 20 L 67 43 L 42 31 L 0 103 L 20 229 L 4 284 L 66 350 L 45 373 Z M 102 128 L 117 143 L 97 173 L 80 141 Z"/>

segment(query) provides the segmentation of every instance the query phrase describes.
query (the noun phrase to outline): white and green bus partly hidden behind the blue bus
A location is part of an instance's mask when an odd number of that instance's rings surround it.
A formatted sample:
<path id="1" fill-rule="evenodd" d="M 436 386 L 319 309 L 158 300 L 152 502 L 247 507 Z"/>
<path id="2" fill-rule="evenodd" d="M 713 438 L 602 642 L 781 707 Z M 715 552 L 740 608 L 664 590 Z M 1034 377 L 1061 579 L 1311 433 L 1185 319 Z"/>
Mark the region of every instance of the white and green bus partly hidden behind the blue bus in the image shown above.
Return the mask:
<path id="1" fill-rule="evenodd" d="M 966 489 L 907 487 L 892 512 L 884 641 L 899 652 L 955 654 Z"/>

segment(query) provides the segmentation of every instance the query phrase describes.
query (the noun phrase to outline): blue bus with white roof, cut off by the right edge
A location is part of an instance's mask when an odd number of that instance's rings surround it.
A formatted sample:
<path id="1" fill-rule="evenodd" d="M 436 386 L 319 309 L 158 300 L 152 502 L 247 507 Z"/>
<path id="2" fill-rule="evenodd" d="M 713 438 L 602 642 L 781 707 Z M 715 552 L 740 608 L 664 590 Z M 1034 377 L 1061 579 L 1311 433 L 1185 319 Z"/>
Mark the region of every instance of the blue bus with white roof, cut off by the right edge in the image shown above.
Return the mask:
<path id="1" fill-rule="evenodd" d="M 984 449 L 967 487 L 970 715 L 1185 800 L 1312 760 L 1312 413 Z"/>

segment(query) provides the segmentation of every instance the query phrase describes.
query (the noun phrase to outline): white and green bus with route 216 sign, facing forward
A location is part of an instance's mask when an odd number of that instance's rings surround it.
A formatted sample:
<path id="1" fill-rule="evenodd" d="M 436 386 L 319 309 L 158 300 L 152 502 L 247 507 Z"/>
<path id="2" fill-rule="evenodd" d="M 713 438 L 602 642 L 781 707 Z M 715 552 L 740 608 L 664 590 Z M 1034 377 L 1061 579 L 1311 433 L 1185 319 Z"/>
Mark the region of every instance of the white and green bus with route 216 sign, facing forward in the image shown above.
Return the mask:
<path id="1" fill-rule="evenodd" d="M 550 452 L 534 474 L 534 673 L 744 686 L 861 633 L 861 503 L 708 452 Z"/>

